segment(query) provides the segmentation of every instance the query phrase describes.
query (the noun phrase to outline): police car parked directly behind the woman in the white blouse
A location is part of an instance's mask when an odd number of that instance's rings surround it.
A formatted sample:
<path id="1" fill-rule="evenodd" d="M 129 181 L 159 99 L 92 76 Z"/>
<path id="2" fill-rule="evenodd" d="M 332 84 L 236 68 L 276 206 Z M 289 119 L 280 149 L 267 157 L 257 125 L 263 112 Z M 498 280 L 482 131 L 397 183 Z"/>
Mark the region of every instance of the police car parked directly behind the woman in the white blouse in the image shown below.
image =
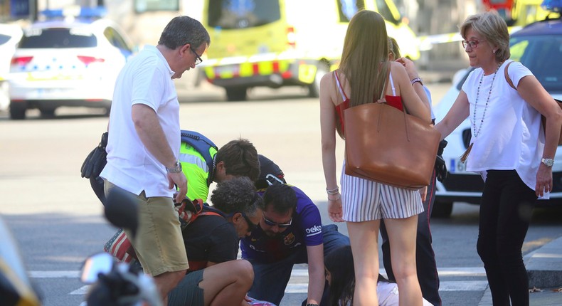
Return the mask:
<path id="1" fill-rule="evenodd" d="M 544 88 L 557 100 L 562 100 L 562 20 L 537 21 L 511 34 L 509 41 L 511 60 L 520 61 L 529 68 Z M 554 60 L 546 60 L 546 59 Z M 453 78 L 453 86 L 435 107 L 436 120 L 442 120 L 462 88 L 472 68 L 461 70 Z M 502 73 L 503 76 L 503 73 Z M 435 194 L 434 217 L 450 216 L 455 201 L 479 204 L 484 182 L 479 174 L 467 172 L 459 157 L 470 144 L 470 121 L 462 122 L 447 138 L 447 147 L 442 154 L 447 170 L 447 179 L 438 181 Z M 550 200 L 537 201 L 538 206 L 562 204 L 562 148 L 558 147 L 556 161 L 552 167 L 553 191 Z"/>

